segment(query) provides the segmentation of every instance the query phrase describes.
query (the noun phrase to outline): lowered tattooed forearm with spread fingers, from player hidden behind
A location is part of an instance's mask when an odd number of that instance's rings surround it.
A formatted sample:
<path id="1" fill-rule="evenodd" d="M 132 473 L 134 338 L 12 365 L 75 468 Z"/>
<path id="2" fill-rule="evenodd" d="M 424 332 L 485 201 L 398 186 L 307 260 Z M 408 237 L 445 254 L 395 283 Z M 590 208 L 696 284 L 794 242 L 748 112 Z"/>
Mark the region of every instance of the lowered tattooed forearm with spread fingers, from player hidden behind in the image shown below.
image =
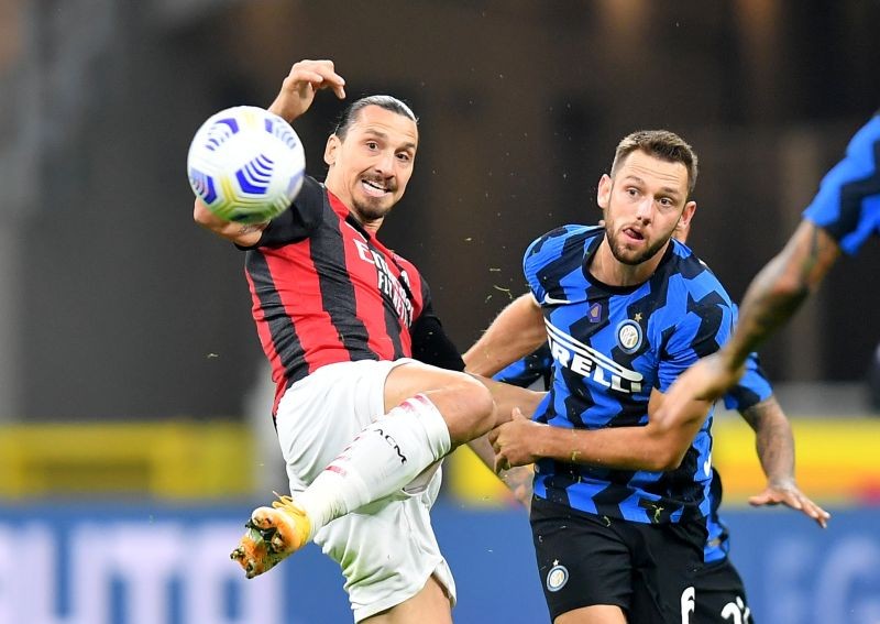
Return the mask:
<path id="1" fill-rule="evenodd" d="M 831 514 L 809 499 L 794 480 L 794 436 L 774 396 L 740 412 L 755 430 L 755 445 L 767 477 L 763 492 L 751 496 L 756 506 L 784 504 L 800 510 L 825 528 Z"/>

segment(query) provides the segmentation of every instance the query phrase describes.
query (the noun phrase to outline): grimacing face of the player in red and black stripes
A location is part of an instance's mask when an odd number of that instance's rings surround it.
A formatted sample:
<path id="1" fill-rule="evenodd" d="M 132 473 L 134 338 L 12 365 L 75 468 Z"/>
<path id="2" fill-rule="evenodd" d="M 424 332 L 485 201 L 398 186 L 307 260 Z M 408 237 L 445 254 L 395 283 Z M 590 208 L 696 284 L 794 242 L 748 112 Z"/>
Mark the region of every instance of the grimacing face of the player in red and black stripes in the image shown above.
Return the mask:
<path id="1" fill-rule="evenodd" d="M 381 223 L 404 196 L 418 141 L 411 119 L 377 106 L 365 107 L 344 141 L 337 135 L 327 141 L 327 187 L 361 222 Z"/>

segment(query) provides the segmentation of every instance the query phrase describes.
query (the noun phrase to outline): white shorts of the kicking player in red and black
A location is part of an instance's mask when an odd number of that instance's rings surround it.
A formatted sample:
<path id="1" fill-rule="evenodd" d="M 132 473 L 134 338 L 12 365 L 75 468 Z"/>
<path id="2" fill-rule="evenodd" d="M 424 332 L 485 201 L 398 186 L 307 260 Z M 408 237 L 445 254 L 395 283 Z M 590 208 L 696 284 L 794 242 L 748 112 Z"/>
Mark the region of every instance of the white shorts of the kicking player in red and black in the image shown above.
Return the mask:
<path id="1" fill-rule="evenodd" d="M 385 413 L 385 380 L 408 362 L 329 364 L 284 393 L 276 423 L 294 495 Z M 431 574 L 454 605 L 455 582 L 430 522 L 441 479 L 438 466 L 421 486 L 365 505 L 316 534 L 315 543 L 342 567 L 355 622 L 414 596 Z"/>

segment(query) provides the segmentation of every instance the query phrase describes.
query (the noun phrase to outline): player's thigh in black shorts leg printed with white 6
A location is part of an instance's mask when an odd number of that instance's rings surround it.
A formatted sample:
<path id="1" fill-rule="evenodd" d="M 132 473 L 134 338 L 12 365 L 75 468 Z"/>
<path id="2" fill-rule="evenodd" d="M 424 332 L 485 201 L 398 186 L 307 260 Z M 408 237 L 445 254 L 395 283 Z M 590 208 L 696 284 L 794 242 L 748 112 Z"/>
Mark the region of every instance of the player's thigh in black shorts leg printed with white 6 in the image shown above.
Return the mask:
<path id="1" fill-rule="evenodd" d="M 694 624 L 696 574 L 703 568 L 705 527 L 700 522 L 627 525 L 635 582 L 631 622 Z"/>

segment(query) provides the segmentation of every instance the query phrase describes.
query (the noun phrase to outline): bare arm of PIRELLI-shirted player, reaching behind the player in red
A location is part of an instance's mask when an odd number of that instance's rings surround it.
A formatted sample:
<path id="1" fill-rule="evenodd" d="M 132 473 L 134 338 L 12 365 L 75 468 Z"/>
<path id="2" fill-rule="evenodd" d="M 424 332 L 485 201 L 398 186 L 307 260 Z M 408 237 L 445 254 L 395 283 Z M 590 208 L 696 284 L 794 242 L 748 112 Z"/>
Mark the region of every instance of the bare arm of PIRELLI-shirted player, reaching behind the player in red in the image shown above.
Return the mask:
<path id="1" fill-rule="evenodd" d="M 480 340 L 464 353 L 466 371 L 492 376 L 535 351 L 546 340 L 541 307 L 531 294 L 522 295 L 504 308 Z"/>

